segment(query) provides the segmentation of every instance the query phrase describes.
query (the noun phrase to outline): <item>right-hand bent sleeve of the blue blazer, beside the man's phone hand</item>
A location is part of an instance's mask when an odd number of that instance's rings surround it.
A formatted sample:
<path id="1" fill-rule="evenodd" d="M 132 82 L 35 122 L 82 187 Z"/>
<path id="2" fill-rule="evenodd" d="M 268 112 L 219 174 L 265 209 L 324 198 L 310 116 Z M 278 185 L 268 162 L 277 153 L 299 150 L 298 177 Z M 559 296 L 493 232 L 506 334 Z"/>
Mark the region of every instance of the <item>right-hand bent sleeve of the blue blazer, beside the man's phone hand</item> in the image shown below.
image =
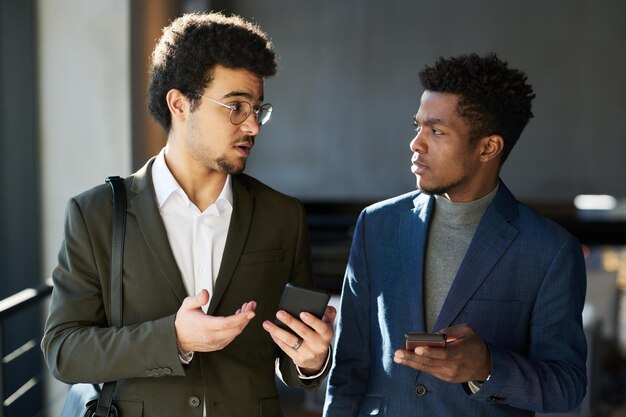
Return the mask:
<path id="1" fill-rule="evenodd" d="M 586 273 L 580 244 L 571 236 L 555 252 L 529 323 L 527 354 L 489 345 L 492 373 L 476 399 L 537 412 L 575 408 L 587 386 L 582 326 Z"/>

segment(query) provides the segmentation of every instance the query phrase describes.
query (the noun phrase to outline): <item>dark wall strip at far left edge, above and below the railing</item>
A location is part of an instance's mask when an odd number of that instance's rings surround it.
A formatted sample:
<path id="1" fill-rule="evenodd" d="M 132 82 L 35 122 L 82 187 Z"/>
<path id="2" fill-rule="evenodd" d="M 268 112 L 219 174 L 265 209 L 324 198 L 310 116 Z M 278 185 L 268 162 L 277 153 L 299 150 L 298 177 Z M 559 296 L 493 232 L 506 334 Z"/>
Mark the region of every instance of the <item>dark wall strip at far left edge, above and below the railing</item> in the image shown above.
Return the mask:
<path id="1" fill-rule="evenodd" d="M 42 279 L 36 25 L 34 0 L 0 0 L 0 299 Z M 2 322 L 0 406 L 6 417 L 36 416 L 43 408 L 40 322 L 38 306 Z M 7 358 L 18 348 L 22 354 Z M 23 387 L 30 388 L 13 395 Z"/>

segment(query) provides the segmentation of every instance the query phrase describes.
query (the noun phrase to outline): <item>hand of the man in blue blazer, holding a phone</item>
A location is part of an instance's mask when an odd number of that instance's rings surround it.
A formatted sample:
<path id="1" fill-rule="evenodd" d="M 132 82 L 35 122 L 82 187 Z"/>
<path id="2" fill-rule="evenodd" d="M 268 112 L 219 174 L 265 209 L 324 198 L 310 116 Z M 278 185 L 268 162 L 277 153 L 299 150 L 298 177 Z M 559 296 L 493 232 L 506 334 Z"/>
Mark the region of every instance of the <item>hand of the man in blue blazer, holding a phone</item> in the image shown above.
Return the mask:
<path id="1" fill-rule="evenodd" d="M 446 382 L 484 381 L 491 373 L 491 356 L 485 342 L 468 324 L 443 329 L 446 347 L 420 346 L 398 349 L 393 360 Z"/>

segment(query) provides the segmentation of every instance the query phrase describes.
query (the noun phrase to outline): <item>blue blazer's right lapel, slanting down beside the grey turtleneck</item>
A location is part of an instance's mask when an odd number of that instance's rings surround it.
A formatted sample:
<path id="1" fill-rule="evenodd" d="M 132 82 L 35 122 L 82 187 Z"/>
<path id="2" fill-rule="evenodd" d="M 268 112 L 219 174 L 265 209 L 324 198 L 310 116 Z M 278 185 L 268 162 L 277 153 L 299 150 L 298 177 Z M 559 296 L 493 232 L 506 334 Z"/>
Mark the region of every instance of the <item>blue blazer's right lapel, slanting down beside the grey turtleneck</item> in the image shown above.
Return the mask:
<path id="1" fill-rule="evenodd" d="M 435 329 L 452 324 L 467 301 L 507 251 L 519 230 L 511 224 L 518 217 L 517 201 L 500 182 L 494 201 L 487 207 L 472 243 L 448 292 Z"/>

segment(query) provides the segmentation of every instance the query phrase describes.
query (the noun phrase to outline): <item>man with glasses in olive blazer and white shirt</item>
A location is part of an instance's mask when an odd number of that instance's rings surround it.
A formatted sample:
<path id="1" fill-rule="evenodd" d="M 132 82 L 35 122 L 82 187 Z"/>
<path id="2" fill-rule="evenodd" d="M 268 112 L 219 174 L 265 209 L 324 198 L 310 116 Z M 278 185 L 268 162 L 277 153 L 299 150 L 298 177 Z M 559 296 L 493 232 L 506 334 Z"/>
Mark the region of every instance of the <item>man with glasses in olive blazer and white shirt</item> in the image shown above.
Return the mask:
<path id="1" fill-rule="evenodd" d="M 303 208 L 242 174 L 275 72 L 267 36 L 239 17 L 189 14 L 164 29 L 148 106 L 168 138 L 125 179 L 121 328 L 105 314 L 110 190 L 70 201 L 42 348 L 62 381 L 117 381 L 124 417 L 280 416 L 275 372 L 315 388 L 329 368 L 334 309 L 276 311 L 287 282 L 311 285 Z"/>

